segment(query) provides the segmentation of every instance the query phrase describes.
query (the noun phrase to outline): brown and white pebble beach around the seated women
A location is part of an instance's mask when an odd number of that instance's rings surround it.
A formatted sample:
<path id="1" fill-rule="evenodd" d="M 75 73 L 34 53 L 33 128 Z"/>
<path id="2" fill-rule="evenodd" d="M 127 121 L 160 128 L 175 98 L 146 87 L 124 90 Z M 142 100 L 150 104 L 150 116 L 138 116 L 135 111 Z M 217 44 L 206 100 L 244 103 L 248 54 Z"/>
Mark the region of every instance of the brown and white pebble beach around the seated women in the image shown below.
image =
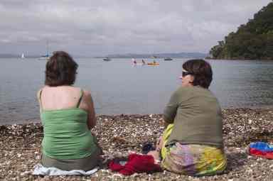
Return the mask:
<path id="1" fill-rule="evenodd" d="M 40 163 L 43 127 L 41 124 L 0 126 L 0 180 L 273 180 L 273 160 L 248 155 L 247 145 L 254 141 L 273 142 L 273 109 L 223 109 L 223 134 L 228 167 L 221 175 L 191 177 L 164 171 L 152 174 L 119 175 L 107 168 L 107 161 L 141 153 L 146 141 L 156 142 L 164 131 L 162 115 L 97 116 L 92 133 L 102 146 L 104 165 L 94 175 L 35 176 Z"/>

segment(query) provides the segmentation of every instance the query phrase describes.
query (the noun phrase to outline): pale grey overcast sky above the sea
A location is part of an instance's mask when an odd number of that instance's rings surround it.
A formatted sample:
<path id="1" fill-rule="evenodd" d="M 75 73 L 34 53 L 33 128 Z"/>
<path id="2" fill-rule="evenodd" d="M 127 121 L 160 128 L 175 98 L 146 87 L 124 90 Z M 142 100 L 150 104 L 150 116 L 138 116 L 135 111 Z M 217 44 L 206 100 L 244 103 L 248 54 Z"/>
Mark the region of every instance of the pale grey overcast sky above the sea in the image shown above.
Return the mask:
<path id="1" fill-rule="evenodd" d="M 272 0 L 0 0 L 0 54 L 208 53 Z"/>

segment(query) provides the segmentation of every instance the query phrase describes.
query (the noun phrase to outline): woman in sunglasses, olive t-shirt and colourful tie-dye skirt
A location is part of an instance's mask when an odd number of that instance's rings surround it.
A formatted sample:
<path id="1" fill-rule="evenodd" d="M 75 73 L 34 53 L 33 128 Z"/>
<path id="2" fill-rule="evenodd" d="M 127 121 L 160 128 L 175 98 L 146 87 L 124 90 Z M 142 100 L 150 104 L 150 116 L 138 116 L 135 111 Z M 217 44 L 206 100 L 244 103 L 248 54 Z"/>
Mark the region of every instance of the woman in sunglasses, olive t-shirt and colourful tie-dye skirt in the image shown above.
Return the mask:
<path id="1" fill-rule="evenodd" d="M 182 67 L 182 84 L 164 110 L 166 129 L 148 155 L 171 172 L 215 175 L 227 161 L 220 105 L 208 89 L 213 71 L 205 60 L 188 60 Z"/>

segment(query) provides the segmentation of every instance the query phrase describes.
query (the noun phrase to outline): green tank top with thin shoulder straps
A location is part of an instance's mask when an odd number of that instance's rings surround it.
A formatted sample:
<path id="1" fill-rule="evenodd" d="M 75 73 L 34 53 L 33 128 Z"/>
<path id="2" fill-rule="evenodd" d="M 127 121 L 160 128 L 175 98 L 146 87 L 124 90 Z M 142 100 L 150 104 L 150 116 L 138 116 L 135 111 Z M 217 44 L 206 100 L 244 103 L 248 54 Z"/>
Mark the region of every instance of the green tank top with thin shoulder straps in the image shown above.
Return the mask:
<path id="1" fill-rule="evenodd" d="M 44 155 L 58 159 L 86 158 L 97 149 L 87 127 L 87 111 L 78 107 L 81 99 L 82 95 L 77 106 L 71 109 L 43 111 L 41 105 Z"/>

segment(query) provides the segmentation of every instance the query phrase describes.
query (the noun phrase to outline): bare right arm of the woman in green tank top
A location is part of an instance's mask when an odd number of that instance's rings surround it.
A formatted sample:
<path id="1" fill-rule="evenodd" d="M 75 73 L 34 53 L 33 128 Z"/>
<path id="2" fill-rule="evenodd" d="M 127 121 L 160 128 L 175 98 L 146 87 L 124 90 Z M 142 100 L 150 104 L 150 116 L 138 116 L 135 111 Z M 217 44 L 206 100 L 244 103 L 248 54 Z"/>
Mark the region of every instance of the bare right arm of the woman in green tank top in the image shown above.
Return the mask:
<path id="1" fill-rule="evenodd" d="M 87 117 L 87 126 L 89 129 L 94 128 L 97 124 L 94 103 L 91 97 L 90 92 L 85 92 L 86 103 L 88 106 L 88 117 Z"/>

